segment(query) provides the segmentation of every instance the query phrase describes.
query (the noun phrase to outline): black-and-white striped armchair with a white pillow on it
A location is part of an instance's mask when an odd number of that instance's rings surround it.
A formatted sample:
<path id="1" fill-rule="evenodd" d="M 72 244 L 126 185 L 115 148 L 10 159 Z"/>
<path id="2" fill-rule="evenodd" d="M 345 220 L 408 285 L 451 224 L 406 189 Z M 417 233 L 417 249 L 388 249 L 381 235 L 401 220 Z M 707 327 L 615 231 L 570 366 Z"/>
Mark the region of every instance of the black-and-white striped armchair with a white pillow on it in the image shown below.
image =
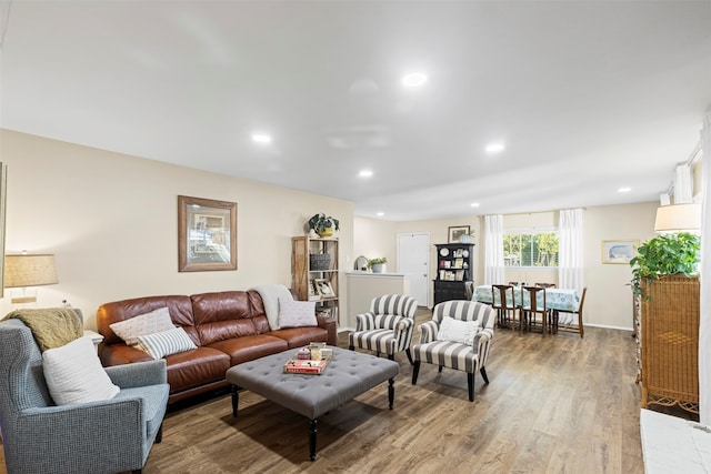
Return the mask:
<path id="1" fill-rule="evenodd" d="M 459 321 L 479 321 L 479 332 L 473 334 L 471 344 L 463 342 L 439 341 L 438 333 L 444 317 Z M 414 367 L 412 385 L 417 384 L 420 364 L 427 362 L 442 367 L 467 372 L 469 401 L 474 401 L 474 373 L 479 371 L 485 383 L 487 357 L 493 337 L 495 312 L 491 306 L 474 301 L 445 301 L 432 310 L 432 320 L 420 325 L 420 343 L 412 346 Z"/>

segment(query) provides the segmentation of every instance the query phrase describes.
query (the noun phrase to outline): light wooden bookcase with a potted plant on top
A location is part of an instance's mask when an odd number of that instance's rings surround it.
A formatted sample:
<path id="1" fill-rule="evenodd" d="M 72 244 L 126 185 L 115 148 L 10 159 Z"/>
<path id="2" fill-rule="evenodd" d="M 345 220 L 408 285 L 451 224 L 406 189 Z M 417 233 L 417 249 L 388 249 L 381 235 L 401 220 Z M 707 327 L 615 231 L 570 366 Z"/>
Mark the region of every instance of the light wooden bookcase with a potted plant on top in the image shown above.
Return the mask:
<path id="1" fill-rule="evenodd" d="M 317 314 L 339 320 L 338 238 L 291 238 L 291 289 L 301 301 L 316 301 Z"/>

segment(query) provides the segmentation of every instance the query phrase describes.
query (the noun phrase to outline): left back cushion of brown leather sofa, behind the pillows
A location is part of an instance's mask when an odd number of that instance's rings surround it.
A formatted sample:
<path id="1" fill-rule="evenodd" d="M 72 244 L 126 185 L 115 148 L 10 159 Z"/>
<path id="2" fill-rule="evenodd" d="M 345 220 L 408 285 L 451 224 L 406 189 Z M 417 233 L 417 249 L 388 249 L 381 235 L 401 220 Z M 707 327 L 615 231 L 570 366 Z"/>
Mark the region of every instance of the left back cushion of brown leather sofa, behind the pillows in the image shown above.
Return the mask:
<path id="1" fill-rule="evenodd" d="M 200 345 L 198 331 L 194 327 L 190 297 L 184 295 L 136 297 L 102 304 L 97 311 L 97 329 L 103 335 L 103 343 L 117 344 L 123 342 L 111 330 L 111 324 L 150 313 L 160 307 L 168 307 L 172 322 L 183 327 L 192 342 Z"/>

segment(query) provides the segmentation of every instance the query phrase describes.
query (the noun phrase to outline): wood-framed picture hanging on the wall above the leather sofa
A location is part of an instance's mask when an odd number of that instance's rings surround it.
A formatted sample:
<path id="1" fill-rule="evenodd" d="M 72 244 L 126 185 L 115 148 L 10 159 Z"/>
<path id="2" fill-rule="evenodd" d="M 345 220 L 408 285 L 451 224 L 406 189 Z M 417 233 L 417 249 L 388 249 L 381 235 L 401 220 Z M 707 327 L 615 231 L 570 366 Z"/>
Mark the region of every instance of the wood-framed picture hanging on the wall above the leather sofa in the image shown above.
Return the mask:
<path id="1" fill-rule="evenodd" d="M 237 203 L 178 196 L 178 271 L 237 270 Z"/>

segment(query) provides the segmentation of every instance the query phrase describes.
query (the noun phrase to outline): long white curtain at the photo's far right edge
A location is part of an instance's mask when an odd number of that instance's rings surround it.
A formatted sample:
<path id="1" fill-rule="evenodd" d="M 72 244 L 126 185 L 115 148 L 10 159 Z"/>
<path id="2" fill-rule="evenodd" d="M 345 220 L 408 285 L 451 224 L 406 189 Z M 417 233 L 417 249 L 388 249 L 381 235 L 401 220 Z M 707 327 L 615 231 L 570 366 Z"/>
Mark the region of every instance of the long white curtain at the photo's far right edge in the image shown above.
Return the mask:
<path id="1" fill-rule="evenodd" d="M 699 323 L 699 421 L 711 425 L 711 114 L 701 129 L 701 321 Z M 704 256 L 707 255 L 707 256 Z"/>

